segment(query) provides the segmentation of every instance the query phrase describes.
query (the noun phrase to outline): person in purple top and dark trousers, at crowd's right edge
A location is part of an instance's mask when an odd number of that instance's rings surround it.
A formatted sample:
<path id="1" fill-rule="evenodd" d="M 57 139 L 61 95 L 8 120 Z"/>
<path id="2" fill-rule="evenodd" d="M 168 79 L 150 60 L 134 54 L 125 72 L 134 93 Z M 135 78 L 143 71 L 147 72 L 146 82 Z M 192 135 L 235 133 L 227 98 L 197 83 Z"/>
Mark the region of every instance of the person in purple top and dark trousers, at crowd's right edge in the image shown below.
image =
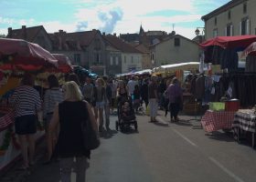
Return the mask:
<path id="1" fill-rule="evenodd" d="M 171 113 L 171 122 L 177 122 L 178 112 L 180 110 L 180 106 L 183 103 L 182 89 L 178 84 L 178 80 L 176 77 L 173 78 L 172 84 L 168 86 L 166 90 L 166 95 L 169 98 L 169 108 Z"/>

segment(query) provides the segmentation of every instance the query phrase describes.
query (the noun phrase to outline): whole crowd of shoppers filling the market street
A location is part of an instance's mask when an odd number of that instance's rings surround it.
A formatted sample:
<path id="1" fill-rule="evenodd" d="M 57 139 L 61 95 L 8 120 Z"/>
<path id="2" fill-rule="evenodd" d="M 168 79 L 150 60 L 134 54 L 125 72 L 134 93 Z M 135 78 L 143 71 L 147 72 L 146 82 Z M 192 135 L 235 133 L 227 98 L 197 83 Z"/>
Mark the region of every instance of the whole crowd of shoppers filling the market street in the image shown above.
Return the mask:
<path id="1" fill-rule="evenodd" d="M 170 111 L 170 121 L 177 122 L 182 103 L 182 89 L 175 76 L 168 79 L 159 76 L 131 76 L 130 79 L 102 76 L 92 79 L 86 76 L 81 79 L 70 74 L 65 84 L 60 86 L 58 78 L 51 75 L 48 76 L 48 89 L 40 94 L 34 85 L 34 77 L 25 75 L 11 97 L 23 156 L 21 169 L 34 164 L 38 119 L 46 132 L 44 164 L 49 164 L 54 156 L 58 157 L 62 181 L 69 181 L 74 157 L 77 157 L 76 167 L 79 167 L 77 175 L 80 181 L 85 180 L 86 158 L 90 158 L 90 151 L 82 147 L 80 122 L 84 118 L 91 118 L 95 131 L 109 131 L 110 115 L 115 113 L 117 102 L 130 96 L 136 112 L 140 107 L 149 109 L 149 122 L 157 122 L 159 108 L 165 109 L 165 116 Z M 131 107 L 124 102 L 122 108 L 122 115 L 126 116 Z M 88 112 L 83 112 L 85 109 Z"/>

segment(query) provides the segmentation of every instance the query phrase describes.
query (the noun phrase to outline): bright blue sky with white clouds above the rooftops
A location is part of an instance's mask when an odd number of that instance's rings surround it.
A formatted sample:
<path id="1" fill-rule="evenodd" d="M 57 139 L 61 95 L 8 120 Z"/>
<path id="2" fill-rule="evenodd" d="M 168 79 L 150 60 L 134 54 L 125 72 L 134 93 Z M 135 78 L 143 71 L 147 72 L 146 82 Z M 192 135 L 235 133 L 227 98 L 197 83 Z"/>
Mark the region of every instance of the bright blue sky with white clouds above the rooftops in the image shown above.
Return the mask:
<path id="1" fill-rule="evenodd" d="M 0 35 L 43 25 L 48 33 L 99 29 L 116 35 L 161 30 L 194 38 L 202 15 L 230 0 L 0 0 Z M 199 28 L 202 30 L 202 28 Z"/>

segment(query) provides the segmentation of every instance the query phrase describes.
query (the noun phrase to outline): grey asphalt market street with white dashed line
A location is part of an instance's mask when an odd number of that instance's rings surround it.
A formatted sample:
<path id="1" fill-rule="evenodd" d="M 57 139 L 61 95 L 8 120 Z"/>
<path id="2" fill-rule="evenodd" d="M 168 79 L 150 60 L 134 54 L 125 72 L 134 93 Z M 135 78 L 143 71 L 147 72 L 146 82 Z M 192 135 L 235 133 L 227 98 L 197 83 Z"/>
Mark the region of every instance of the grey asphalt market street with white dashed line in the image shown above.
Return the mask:
<path id="1" fill-rule="evenodd" d="M 250 144 L 239 145 L 222 131 L 206 136 L 194 116 L 168 123 L 162 111 L 159 123 L 137 116 L 138 132 L 101 136 L 101 147 L 92 151 L 87 180 L 93 182 L 208 181 L 254 182 L 256 156 Z M 198 118 L 198 117 L 197 117 Z M 112 129 L 116 116 L 112 116 Z M 186 119 L 186 120 L 185 120 Z M 27 182 L 59 181 L 58 163 L 32 169 Z M 73 179 L 75 175 L 72 175 Z M 1 182 L 2 179 L 0 178 Z"/>

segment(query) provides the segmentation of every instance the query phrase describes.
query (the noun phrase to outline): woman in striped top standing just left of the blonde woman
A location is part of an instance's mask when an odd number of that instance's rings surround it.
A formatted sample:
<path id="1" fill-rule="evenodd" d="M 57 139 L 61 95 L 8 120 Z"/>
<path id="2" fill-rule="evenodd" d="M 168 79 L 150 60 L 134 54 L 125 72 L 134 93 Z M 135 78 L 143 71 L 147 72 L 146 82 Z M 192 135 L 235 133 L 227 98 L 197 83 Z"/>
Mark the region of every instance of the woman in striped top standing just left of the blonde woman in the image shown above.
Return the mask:
<path id="1" fill-rule="evenodd" d="M 44 126 L 46 131 L 46 139 L 47 139 L 47 147 L 48 147 L 48 155 L 44 164 L 49 164 L 53 148 L 56 145 L 57 138 L 59 136 L 59 128 L 50 135 L 48 132 L 49 122 L 53 115 L 53 110 L 56 104 L 63 101 L 63 93 L 59 88 L 59 80 L 56 76 L 50 75 L 48 76 L 48 86 L 49 89 L 46 91 L 43 102 L 43 116 L 44 116 Z"/>

